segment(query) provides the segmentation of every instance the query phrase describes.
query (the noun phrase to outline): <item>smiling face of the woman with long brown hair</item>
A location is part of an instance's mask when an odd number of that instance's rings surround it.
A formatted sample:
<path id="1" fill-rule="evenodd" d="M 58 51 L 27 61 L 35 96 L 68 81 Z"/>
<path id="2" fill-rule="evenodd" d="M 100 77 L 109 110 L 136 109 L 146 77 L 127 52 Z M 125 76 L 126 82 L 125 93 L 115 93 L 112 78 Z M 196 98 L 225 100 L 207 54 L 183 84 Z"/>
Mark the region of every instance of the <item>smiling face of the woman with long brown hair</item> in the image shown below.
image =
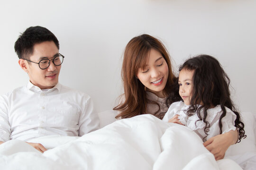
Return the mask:
<path id="1" fill-rule="evenodd" d="M 151 49 L 146 63 L 146 68 L 139 68 L 137 77 L 145 85 L 146 90 L 164 98 L 163 90 L 168 79 L 168 65 L 159 51 Z"/>

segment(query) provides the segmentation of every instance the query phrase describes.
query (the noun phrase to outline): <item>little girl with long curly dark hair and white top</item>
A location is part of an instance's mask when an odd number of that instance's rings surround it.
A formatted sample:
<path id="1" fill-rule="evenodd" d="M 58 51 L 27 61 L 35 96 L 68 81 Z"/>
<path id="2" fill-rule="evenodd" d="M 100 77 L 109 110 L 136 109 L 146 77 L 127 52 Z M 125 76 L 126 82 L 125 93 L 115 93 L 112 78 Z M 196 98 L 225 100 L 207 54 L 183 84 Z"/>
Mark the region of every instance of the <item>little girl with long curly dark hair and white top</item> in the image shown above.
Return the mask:
<path id="1" fill-rule="evenodd" d="M 164 121 L 185 125 L 205 142 L 235 130 L 245 138 L 244 123 L 230 99 L 229 77 L 219 61 L 209 55 L 188 59 L 179 69 L 181 102 L 174 102 Z"/>

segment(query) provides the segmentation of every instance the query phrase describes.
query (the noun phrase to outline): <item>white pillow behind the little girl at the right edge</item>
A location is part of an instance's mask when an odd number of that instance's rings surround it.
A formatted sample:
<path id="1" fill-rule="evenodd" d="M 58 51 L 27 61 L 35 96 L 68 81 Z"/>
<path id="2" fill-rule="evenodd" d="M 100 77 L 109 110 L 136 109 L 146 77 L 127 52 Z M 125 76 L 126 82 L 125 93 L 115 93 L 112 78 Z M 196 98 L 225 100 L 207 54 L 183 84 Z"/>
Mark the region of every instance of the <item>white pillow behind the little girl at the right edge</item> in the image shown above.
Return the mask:
<path id="1" fill-rule="evenodd" d="M 256 114 L 251 112 L 241 113 L 242 122 L 245 124 L 247 137 L 241 142 L 233 144 L 227 150 L 225 156 L 234 156 L 247 152 L 256 152 Z"/>

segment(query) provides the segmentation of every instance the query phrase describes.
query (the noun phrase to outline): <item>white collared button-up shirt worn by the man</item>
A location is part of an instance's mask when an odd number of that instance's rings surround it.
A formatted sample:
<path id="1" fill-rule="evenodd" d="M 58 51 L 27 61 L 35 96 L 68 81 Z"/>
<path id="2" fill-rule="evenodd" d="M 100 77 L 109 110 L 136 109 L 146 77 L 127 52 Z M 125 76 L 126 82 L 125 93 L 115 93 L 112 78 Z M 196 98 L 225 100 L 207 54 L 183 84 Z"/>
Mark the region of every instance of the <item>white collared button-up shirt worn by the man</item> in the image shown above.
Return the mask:
<path id="1" fill-rule="evenodd" d="M 0 141 L 82 136 L 99 128 L 91 97 L 61 84 L 41 90 L 28 83 L 0 96 Z"/>

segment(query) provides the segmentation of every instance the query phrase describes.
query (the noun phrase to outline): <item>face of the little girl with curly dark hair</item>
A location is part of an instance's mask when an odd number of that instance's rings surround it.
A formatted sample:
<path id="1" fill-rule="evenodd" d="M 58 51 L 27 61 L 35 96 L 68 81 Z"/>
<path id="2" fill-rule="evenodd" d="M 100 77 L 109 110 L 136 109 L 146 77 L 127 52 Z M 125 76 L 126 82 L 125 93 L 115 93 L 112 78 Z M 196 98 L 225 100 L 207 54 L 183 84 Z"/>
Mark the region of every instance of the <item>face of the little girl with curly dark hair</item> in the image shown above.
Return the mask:
<path id="1" fill-rule="evenodd" d="M 186 105 L 190 105 L 192 97 L 192 78 L 194 70 L 182 69 L 179 74 L 179 94 Z"/>

